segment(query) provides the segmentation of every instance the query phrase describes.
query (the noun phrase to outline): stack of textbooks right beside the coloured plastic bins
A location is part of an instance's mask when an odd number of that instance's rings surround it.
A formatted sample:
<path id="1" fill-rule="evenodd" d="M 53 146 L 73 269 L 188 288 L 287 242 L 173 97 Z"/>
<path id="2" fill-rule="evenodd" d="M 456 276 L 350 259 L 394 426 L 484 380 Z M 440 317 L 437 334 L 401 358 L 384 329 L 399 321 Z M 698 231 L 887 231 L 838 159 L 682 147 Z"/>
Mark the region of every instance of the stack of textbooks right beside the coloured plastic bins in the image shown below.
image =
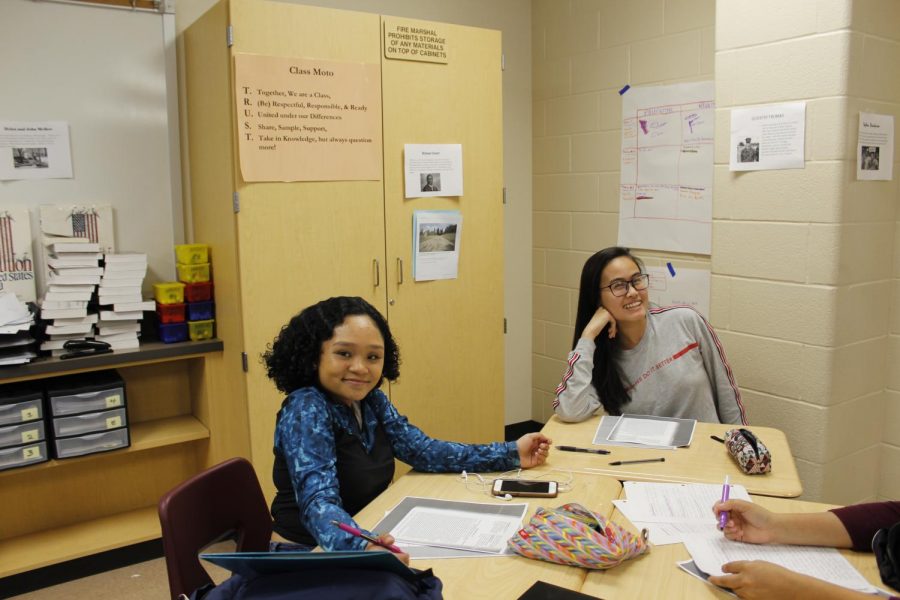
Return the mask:
<path id="1" fill-rule="evenodd" d="M 153 300 L 144 300 L 141 294 L 146 275 L 146 254 L 107 254 L 103 257 L 103 276 L 97 290 L 100 307 L 97 341 L 106 342 L 113 350 L 139 346 L 144 311 L 156 308 Z"/>

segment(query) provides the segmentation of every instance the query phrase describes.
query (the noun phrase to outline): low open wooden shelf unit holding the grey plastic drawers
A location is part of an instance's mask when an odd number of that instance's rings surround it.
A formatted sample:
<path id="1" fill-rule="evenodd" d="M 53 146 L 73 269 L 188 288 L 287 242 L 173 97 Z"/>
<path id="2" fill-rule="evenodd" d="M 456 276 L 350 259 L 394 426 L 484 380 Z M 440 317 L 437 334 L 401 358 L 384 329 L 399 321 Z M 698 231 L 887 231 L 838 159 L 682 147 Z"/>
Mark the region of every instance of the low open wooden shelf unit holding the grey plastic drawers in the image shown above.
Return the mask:
<path id="1" fill-rule="evenodd" d="M 156 539 L 160 496 L 206 466 L 246 451 L 213 438 L 210 362 L 222 342 L 145 344 L 138 352 L 5 369 L 0 383 L 115 368 L 125 380 L 131 446 L 0 471 L 0 577 Z M 241 444 L 243 443 L 243 447 Z"/>

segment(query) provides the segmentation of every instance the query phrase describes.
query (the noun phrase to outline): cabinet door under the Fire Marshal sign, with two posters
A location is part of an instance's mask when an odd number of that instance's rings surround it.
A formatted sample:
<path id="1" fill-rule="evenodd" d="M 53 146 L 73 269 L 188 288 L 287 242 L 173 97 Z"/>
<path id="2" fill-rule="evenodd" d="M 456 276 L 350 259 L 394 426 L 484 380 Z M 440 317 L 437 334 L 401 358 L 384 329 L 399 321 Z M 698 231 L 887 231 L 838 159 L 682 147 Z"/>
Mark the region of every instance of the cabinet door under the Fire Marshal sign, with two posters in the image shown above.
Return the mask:
<path id="1" fill-rule="evenodd" d="M 391 23 L 404 21 L 390 18 Z M 432 436 L 503 436 L 500 33 L 444 23 L 447 64 L 382 58 L 388 317 L 402 357 L 391 399 Z M 403 145 L 462 144 L 464 195 L 404 199 Z M 459 278 L 414 282 L 416 210 L 460 210 Z M 402 283 L 398 259 L 403 263 Z"/>

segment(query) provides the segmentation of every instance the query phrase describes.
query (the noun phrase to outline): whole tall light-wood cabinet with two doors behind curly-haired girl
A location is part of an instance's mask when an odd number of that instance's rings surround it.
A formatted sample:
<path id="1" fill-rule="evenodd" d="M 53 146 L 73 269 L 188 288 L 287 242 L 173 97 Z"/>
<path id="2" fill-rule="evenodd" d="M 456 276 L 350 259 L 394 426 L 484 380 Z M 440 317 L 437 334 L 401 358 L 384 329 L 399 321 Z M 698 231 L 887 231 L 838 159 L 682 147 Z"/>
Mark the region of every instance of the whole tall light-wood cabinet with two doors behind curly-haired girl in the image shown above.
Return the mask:
<path id="1" fill-rule="evenodd" d="M 194 238 L 211 244 L 217 325 L 229 341 L 220 379 L 246 398 L 252 460 L 270 496 L 282 396 L 260 355 L 292 315 L 330 296 L 362 296 L 388 317 L 402 365 L 387 391 L 413 423 L 444 439 L 502 438 L 500 34 L 432 25 L 446 32 L 447 64 L 383 58 L 378 15 L 280 2 L 223 1 L 184 34 Z M 235 139 L 237 53 L 379 65 L 383 177 L 243 181 Z M 405 199 L 407 143 L 461 144 L 465 194 Z M 414 282 L 412 214 L 435 209 L 462 213 L 459 277 Z"/>

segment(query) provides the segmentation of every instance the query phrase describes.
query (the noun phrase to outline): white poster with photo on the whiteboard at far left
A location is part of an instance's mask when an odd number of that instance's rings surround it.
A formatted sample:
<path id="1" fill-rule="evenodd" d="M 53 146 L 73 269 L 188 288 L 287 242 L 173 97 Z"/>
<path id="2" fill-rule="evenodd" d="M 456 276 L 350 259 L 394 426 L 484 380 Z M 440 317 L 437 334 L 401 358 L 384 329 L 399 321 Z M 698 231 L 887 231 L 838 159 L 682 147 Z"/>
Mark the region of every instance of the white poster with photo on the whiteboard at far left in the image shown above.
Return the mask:
<path id="1" fill-rule="evenodd" d="M 0 121 L 0 181 L 71 178 L 67 123 Z"/>

